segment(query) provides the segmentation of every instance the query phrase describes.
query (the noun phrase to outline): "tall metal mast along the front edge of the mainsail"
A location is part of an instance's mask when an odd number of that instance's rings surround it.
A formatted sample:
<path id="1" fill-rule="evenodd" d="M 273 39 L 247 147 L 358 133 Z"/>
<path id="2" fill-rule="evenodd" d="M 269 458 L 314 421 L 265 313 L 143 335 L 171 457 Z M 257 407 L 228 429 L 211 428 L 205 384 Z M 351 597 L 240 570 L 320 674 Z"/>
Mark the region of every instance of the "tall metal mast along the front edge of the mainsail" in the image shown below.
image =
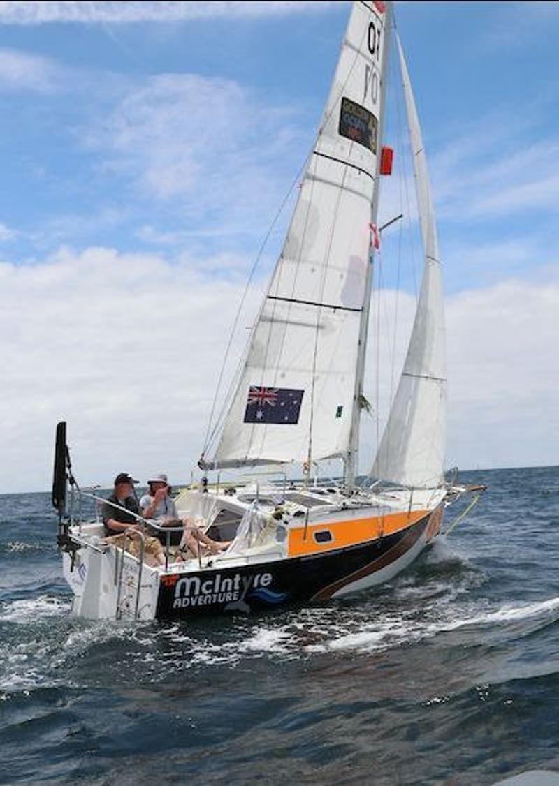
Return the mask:
<path id="1" fill-rule="evenodd" d="M 387 2 L 384 14 L 383 32 L 384 46 L 382 47 L 382 61 L 380 63 L 380 97 L 379 97 L 379 151 L 383 144 L 384 130 L 384 108 L 386 104 L 387 82 L 388 82 L 388 50 L 390 48 L 392 24 L 392 3 Z M 377 46 L 380 42 L 377 41 Z M 380 188 L 380 155 L 376 157 L 375 184 L 372 192 L 371 204 L 371 225 L 376 224 L 379 211 L 379 188 Z M 357 475 L 357 464 L 359 461 L 359 426 L 361 423 L 361 401 L 363 396 L 363 380 L 365 377 L 365 360 L 367 356 L 368 341 L 368 318 L 371 310 L 371 290 L 373 274 L 374 249 L 372 241 L 369 243 L 369 259 L 365 277 L 365 292 L 363 296 L 363 307 L 361 310 L 361 322 L 359 325 L 359 346 L 357 348 L 357 365 L 355 374 L 354 399 L 351 410 L 350 444 L 346 454 L 345 467 L 345 486 L 347 489 L 354 487 L 355 476 Z"/>

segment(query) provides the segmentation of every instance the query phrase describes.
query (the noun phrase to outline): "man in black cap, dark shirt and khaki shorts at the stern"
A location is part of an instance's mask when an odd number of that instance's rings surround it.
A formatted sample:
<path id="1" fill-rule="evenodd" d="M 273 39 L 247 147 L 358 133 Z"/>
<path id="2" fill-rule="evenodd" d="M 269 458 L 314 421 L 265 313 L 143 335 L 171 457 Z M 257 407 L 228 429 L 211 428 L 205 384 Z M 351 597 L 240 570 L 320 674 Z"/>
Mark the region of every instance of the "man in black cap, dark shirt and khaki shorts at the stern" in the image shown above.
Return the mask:
<path id="1" fill-rule="evenodd" d="M 114 479 L 113 494 L 107 498 L 102 508 L 108 542 L 116 546 L 125 545 L 126 550 L 134 556 L 140 554 L 139 536 L 127 538 L 124 531 L 143 529 L 139 522 L 139 507 L 134 494 L 134 483 L 137 482 L 128 475 L 128 472 L 120 472 Z M 157 538 L 144 538 L 144 549 L 148 564 L 165 564 L 165 554 Z"/>

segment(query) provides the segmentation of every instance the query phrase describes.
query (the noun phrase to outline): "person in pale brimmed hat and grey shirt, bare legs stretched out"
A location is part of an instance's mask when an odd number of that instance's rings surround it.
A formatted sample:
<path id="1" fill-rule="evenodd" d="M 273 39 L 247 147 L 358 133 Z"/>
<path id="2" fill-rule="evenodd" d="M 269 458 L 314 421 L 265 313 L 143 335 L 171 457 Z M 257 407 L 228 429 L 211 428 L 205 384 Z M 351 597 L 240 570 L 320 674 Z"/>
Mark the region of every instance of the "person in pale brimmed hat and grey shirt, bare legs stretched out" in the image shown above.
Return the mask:
<path id="1" fill-rule="evenodd" d="M 198 556 L 200 543 L 206 545 L 209 551 L 214 554 L 228 548 L 229 542 L 214 541 L 187 518 L 180 519 L 175 502 L 169 496 L 171 487 L 168 485 L 165 472 L 151 476 L 147 485 L 150 493 L 144 494 L 139 503 L 143 518 L 155 521 L 160 527 L 179 527 L 180 525 L 184 527 L 183 532 L 171 533 L 171 545 L 188 546 L 194 556 Z M 161 542 L 164 542 L 165 535 L 159 535 Z"/>

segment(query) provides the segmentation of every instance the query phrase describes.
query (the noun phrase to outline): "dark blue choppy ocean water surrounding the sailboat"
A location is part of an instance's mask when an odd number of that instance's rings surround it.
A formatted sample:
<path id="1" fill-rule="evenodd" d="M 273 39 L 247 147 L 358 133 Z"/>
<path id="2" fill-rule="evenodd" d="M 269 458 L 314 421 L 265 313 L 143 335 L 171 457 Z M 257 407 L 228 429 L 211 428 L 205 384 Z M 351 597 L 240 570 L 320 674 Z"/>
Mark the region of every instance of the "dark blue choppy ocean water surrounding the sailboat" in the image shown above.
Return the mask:
<path id="1" fill-rule="evenodd" d="M 73 619 L 48 495 L 0 496 L 0 783 L 559 770 L 559 467 L 461 480 L 490 488 L 390 584 L 181 624 Z"/>

